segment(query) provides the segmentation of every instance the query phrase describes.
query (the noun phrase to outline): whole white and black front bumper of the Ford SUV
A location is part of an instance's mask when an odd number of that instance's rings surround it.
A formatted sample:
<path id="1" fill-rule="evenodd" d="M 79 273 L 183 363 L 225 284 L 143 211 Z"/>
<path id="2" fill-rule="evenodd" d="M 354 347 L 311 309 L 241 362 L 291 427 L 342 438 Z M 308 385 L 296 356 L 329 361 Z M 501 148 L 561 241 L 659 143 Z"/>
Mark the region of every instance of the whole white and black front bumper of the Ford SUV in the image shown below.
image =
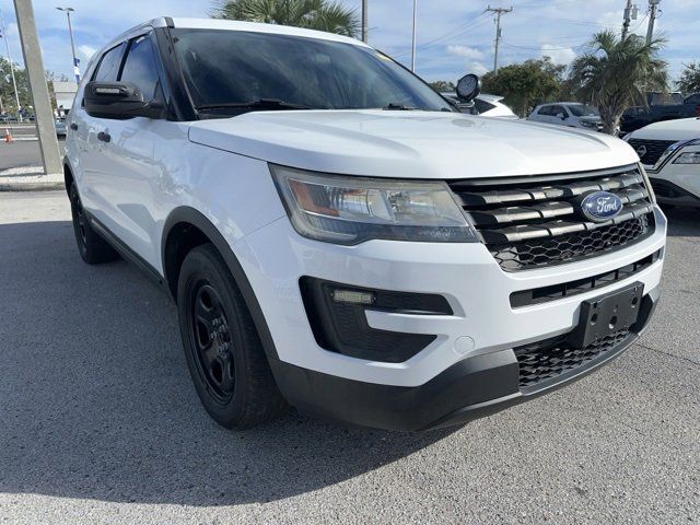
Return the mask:
<path id="1" fill-rule="evenodd" d="M 503 271 L 479 243 L 370 241 L 337 246 L 301 237 L 285 217 L 243 237 L 234 252 L 267 322 L 275 346 L 268 359 L 284 397 L 326 418 L 409 430 L 470 419 L 558 386 L 548 382 L 537 392 L 521 392 L 513 349 L 572 331 L 582 302 L 633 282 L 643 284 L 645 301 L 655 302 L 663 256 L 605 291 L 518 307 L 512 306 L 511 296 L 590 279 L 660 253 L 666 219 L 656 207 L 654 220 L 654 233 L 627 248 L 520 272 Z M 440 294 L 452 315 L 369 310 L 366 323 L 373 329 L 436 335 L 402 362 L 328 351 L 317 342 L 307 317 L 300 290 L 304 276 L 348 287 Z M 593 370 L 632 339 L 555 383 Z"/>

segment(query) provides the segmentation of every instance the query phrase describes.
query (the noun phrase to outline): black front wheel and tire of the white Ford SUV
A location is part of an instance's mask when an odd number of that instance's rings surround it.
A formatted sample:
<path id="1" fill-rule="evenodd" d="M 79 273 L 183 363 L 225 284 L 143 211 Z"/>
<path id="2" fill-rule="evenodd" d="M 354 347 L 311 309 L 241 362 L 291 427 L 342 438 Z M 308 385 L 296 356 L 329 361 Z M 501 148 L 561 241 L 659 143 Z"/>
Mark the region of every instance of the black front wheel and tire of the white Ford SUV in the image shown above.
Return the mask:
<path id="1" fill-rule="evenodd" d="M 287 409 L 243 295 L 213 245 L 185 257 L 177 311 L 195 388 L 219 424 L 243 430 Z"/>

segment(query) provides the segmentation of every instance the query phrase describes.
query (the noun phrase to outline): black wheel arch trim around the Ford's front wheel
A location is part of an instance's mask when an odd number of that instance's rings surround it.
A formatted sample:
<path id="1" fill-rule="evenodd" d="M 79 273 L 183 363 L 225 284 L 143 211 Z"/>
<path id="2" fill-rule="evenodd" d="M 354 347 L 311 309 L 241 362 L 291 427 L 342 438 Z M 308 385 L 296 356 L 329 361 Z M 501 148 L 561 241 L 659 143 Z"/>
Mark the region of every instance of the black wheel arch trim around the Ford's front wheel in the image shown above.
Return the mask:
<path id="1" fill-rule="evenodd" d="M 182 248 L 178 250 L 178 235 L 187 231 L 189 235 L 192 235 L 192 237 L 184 244 L 184 247 L 187 248 L 187 250 L 183 253 Z M 262 308 L 258 303 L 253 287 L 250 285 L 238 258 L 233 253 L 231 245 L 223 237 L 217 226 L 214 226 L 214 224 L 205 214 L 191 207 L 179 207 L 173 210 L 166 219 L 163 228 L 161 257 L 163 264 L 163 276 L 171 296 L 175 302 L 177 302 L 177 280 L 179 278 L 179 268 L 182 266 L 184 255 L 194 247 L 203 243 L 213 244 L 219 254 L 223 257 L 234 282 L 241 290 L 243 299 L 250 313 L 250 317 L 255 324 L 255 328 L 257 329 L 262 342 L 265 353 L 272 365 L 273 362 L 278 361 L 275 341 L 272 340 L 267 320 L 262 314 Z M 272 366 L 273 372 L 275 369 L 276 366 Z"/>

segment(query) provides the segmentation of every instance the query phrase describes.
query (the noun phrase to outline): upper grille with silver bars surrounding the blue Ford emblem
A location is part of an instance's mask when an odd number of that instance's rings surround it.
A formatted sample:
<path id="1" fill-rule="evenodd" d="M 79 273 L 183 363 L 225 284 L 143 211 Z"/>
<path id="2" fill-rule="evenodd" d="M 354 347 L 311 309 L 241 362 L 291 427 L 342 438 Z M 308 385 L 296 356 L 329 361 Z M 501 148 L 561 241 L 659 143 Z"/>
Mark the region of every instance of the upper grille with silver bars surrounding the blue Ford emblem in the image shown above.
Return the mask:
<path id="1" fill-rule="evenodd" d="M 654 230 L 652 203 L 635 166 L 537 177 L 455 180 L 472 224 L 501 268 L 517 271 L 572 262 L 622 248 Z M 592 222 L 579 211 L 588 192 L 622 200 L 621 212 Z"/>

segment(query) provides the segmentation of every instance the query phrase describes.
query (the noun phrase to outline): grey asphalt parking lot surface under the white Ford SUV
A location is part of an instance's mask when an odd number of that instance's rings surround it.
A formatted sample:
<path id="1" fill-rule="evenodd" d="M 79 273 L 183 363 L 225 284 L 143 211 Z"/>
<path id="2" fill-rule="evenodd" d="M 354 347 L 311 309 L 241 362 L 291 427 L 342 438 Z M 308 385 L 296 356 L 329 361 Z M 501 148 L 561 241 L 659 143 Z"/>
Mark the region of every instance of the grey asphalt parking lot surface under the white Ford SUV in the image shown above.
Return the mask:
<path id="1" fill-rule="evenodd" d="M 65 194 L 0 194 L 0 522 L 700 521 L 700 214 L 672 211 L 662 302 L 584 380 L 462 428 L 345 429 L 293 411 L 224 430 L 175 307 L 84 265 Z"/>

